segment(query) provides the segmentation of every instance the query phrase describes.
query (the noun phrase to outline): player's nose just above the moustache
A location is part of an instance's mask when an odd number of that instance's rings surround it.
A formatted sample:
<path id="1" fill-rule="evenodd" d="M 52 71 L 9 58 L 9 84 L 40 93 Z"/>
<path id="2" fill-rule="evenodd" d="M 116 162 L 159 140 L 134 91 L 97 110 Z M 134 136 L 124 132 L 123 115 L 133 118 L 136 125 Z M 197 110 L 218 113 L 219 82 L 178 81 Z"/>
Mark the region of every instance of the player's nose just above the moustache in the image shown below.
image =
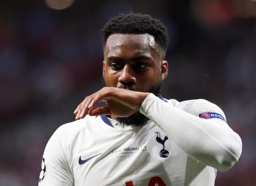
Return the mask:
<path id="1" fill-rule="evenodd" d="M 122 83 L 122 84 L 135 84 L 136 83 L 136 77 L 135 77 L 135 72 L 133 71 L 133 69 L 128 66 L 125 65 L 124 68 L 121 71 L 121 74 L 118 78 L 118 82 Z"/>

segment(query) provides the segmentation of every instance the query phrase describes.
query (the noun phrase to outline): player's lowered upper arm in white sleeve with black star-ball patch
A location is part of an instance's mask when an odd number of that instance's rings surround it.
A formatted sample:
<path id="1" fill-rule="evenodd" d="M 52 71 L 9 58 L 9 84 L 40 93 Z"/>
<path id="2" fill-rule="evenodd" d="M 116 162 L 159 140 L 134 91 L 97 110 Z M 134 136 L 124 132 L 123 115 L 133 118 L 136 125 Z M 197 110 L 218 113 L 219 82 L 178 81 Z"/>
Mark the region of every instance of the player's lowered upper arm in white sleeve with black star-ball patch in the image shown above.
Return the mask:
<path id="1" fill-rule="evenodd" d="M 71 186 L 74 176 L 67 159 L 68 138 L 60 126 L 48 141 L 43 155 L 39 186 Z"/>

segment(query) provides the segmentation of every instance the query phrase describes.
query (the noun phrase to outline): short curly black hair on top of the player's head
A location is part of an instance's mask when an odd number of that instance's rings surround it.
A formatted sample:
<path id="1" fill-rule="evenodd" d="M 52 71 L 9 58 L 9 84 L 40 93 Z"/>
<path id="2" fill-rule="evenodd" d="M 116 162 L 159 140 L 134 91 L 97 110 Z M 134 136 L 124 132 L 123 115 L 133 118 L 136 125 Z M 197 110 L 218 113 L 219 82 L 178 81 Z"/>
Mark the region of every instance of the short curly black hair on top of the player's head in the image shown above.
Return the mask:
<path id="1" fill-rule="evenodd" d="M 168 33 L 166 27 L 157 19 L 148 14 L 129 13 L 120 14 L 111 18 L 101 31 L 103 49 L 110 35 L 120 34 L 145 34 L 152 35 L 156 44 L 161 49 L 161 57 L 164 59 L 168 46 Z"/>

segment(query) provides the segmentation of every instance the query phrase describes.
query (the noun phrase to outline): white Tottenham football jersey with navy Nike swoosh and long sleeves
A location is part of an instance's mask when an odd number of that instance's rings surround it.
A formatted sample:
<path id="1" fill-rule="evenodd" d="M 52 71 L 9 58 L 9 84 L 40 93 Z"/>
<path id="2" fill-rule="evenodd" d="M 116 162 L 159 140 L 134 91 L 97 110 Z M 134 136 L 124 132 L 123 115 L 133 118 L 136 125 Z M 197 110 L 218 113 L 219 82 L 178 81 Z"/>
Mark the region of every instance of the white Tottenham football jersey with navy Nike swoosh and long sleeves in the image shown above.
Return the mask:
<path id="1" fill-rule="evenodd" d="M 160 98 L 142 103 L 150 119 L 143 127 L 89 115 L 60 126 L 45 147 L 39 185 L 214 185 L 217 170 L 240 157 L 239 135 L 215 104 Z"/>

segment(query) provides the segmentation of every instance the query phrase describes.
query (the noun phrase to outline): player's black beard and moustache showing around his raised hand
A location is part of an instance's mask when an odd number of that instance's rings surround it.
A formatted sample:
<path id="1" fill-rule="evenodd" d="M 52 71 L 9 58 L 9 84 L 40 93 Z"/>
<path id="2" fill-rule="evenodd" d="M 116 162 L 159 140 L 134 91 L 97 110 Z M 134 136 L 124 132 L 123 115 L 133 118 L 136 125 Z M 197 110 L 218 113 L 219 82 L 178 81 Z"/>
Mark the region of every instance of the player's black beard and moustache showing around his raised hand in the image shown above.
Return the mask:
<path id="1" fill-rule="evenodd" d="M 102 82 L 105 84 L 106 87 L 108 86 L 104 80 L 104 77 L 102 78 Z M 149 89 L 148 92 L 154 94 L 156 97 L 159 97 L 159 95 L 161 94 L 162 84 L 163 84 L 162 81 L 156 82 L 155 84 L 152 85 L 151 89 Z M 118 88 L 120 88 L 120 89 L 128 88 L 132 91 L 138 91 L 134 85 L 130 85 L 128 83 L 122 84 Z M 116 125 L 120 125 L 123 128 L 125 126 L 132 126 L 133 128 L 138 127 L 138 126 L 142 127 L 146 124 L 146 122 L 148 120 L 149 120 L 149 118 L 144 116 L 140 112 L 135 112 L 134 114 L 132 114 L 131 116 L 128 116 L 128 117 L 124 117 L 124 118 L 116 117 L 116 121 L 117 121 Z"/>

